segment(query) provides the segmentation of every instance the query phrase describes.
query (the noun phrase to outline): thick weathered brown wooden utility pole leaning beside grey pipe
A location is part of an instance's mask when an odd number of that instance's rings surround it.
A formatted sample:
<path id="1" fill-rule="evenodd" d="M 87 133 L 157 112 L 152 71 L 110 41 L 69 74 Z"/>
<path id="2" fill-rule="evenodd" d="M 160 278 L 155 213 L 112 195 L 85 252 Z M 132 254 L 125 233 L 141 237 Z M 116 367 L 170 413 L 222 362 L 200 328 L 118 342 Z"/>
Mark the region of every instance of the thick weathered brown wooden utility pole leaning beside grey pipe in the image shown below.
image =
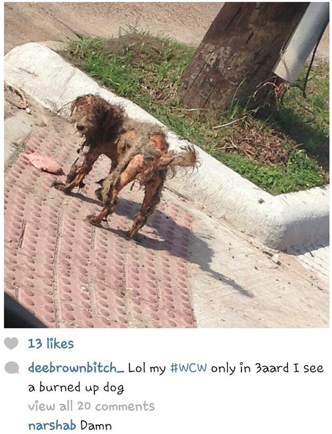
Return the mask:
<path id="1" fill-rule="evenodd" d="M 187 108 L 248 101 L 272 76 L 307 2 L 228 2 L 211 24 L 178 89 Z"/>

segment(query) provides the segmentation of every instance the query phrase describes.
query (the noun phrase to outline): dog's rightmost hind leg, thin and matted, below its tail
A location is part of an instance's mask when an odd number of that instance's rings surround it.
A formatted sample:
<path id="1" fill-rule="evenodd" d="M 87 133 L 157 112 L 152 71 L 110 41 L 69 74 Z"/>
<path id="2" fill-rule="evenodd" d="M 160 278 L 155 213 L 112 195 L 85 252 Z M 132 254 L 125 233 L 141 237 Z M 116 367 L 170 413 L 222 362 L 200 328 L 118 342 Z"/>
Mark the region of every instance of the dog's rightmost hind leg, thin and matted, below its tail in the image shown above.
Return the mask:
<path id="1" fill-rule="evenodd" d="M 158 173 L 145 185 L 145 195 L 140 211 L 134 217 L 129 237 L 135 238 L 137 232 L 145 225 L 160 203 L 161 193 L 165 182 L 165 173 Z"/>

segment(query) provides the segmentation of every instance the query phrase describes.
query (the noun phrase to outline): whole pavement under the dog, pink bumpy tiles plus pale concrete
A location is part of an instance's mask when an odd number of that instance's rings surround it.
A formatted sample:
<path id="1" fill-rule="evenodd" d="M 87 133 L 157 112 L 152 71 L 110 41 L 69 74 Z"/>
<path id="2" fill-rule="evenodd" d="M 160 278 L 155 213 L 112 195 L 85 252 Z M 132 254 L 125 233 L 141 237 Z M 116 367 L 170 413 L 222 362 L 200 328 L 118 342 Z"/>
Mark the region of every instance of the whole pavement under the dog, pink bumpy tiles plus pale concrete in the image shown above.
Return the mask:
<path id="1" fill-rule="evenodd" d="M 55 175 L 25 157 L 53 155 L 67 173 L 79 139 L 58 119 L 37 128 L 5 174 L 5 291 L 48 327 L 329 326 L 326 254 L 323 268 L 304 267 L 301 252 L 276 263 L 168 190 L 140 243 L 125 236 L 142 200 L 137 186 L 121 192 L 109 227 L 87 223 L 109 160 L 82 193 L 65 196 L 51 187 Z"/>

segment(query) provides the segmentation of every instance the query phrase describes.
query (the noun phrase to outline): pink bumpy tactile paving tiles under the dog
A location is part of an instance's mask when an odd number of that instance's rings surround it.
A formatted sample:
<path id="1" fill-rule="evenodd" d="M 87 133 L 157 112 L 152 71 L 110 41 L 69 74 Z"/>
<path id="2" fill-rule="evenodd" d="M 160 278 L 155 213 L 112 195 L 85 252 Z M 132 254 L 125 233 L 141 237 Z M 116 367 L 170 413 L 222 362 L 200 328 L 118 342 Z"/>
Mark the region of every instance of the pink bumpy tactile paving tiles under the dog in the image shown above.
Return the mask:
<path id="1" fill-rule="evenodd" d="M 193 217 L 162 201 L 141 243 L 130 241 L 142 193 L 121 193 L 109 227 L 91 226 L 98 211 L 94 182 L 108 173 L 101 159 L 82 194 L 51 187 L 25 152 L 54 156 L 67 173 L 73 137 L 41 129 L 5 176 L 5 291 L 48 327 L 194 327 L 186 287 Z M 63 177 L 63 176 L 62 176 Z"/>

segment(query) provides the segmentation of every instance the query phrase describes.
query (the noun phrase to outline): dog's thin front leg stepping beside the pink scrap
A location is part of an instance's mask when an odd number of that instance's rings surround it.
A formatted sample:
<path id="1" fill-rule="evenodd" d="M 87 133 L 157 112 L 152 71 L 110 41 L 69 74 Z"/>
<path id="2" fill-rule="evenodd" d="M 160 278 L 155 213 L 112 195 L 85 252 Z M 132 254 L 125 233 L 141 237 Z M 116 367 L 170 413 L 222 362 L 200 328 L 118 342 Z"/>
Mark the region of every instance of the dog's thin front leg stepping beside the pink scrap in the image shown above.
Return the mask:
<path id="1" fill-rule="evenodd" d="M 75 187 L 82 187 L 83 179 L 91 172 L 94 163 L 102 153 L 102 149 L 98 146 L 90 147 L 81 165 L 76 164 L 77 160 L 72 164 L 66 182 L 55 180 L 52 186 L 67 194 Z"/>

